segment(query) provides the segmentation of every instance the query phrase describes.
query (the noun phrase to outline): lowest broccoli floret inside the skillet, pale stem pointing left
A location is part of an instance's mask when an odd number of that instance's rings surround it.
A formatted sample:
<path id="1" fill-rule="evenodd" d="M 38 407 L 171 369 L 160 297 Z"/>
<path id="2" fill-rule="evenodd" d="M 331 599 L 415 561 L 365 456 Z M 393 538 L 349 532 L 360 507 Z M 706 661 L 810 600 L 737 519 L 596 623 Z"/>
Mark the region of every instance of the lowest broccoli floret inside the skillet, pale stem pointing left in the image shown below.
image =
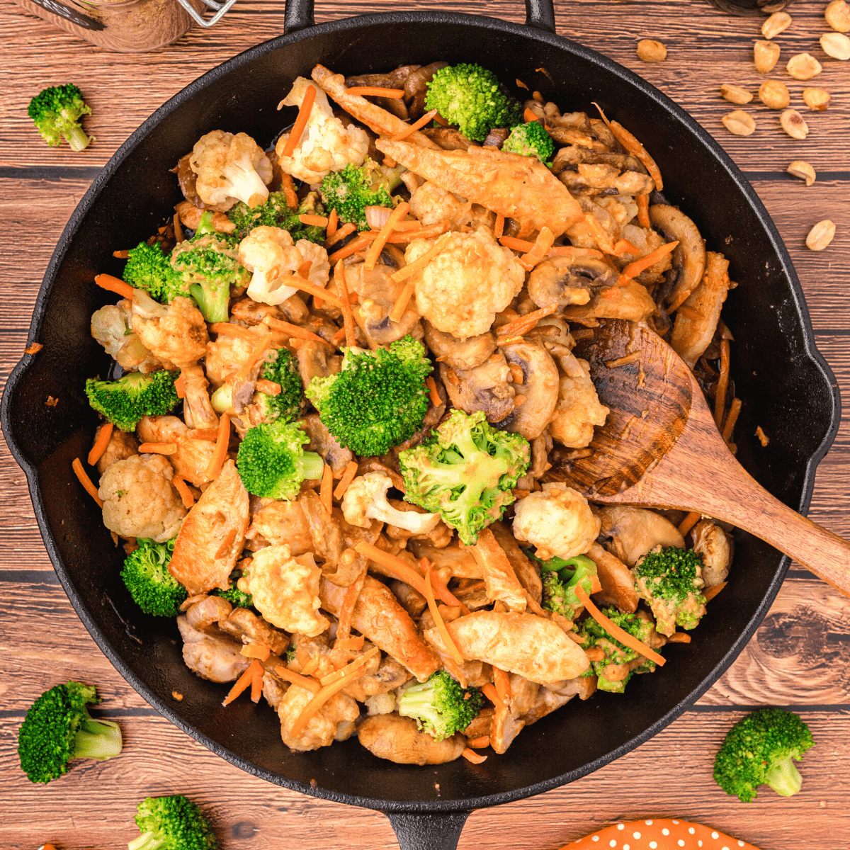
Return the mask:
<path id="1" fill-rule="evenodd" d="M 415 718 L 423 732 L 441 741 L 467 728 L 478 717 L 481 702 L 479 689 L 464 690 L 445 670 L 438 670 L 427 682 L 405 690 L 397 708 L 402 717 Z"/>

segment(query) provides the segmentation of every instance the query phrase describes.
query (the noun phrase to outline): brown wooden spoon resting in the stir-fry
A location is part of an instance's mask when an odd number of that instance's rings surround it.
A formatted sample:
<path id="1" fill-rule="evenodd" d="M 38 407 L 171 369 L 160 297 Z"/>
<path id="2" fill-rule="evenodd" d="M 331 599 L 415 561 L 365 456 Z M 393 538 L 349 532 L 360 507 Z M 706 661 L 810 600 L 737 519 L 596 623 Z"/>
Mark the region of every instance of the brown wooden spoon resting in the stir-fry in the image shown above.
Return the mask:
<path id="1" fill-rule="evenodd" d="M 611 412 L 595 429 L 592 454 L 553 469 L 550 479 L 592 501 L 722 519 L 850 596 L 850 543 L 751 478 L 718 433 L 694 373 L 656 333 L 629 321 L 603 320 L 574 353 L 590 363 L 599 400 Z M 627 362 L 618 364 L 621 358 Z"/>

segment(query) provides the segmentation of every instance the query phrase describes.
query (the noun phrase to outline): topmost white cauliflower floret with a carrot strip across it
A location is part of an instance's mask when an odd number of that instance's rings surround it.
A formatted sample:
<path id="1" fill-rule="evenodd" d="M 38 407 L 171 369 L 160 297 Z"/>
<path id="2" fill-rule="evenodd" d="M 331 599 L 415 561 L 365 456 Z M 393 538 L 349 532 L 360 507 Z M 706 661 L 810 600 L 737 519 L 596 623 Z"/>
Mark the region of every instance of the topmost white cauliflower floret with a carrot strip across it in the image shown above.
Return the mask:
<path id="1" fill-rule="evenodd" d="M 301 139 L 298 139 L 292 156 L 280 156 L 289 139 L 289 133 L 286 133 L 278 139 L 275 153 L 280 167 L 287 174 L 315 185 L 331 171 L 342 171 L 347 165 L 363 165 L 369 150 L 369 137 L 365 130 L 354 127 L 354 124 L 343 127 L 343 122 L 334 117 L 327 95 L 305 77 L 297 77 L 292 83 L 292 91 L 280 101 L 281 105 L 300 107 L 308 86 L 315 88 L 316 98 Z"/>

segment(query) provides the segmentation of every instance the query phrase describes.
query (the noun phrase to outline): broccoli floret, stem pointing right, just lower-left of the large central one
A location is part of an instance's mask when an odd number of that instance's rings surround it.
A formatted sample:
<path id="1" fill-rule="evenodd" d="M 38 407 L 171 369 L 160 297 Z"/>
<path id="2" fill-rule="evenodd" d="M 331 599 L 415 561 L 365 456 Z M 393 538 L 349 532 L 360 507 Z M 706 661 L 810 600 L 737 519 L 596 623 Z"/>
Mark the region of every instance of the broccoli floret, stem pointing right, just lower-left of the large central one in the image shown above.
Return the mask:
<path id="1" fill-rule="evenodd" d="M 295 422 L 269 422 L 248 428 L 236 466 L 245 489 L 254 496 L 293 499 L 303 479 L 318 479 L 325 462 L 304 451 L 310 439 Z"/>

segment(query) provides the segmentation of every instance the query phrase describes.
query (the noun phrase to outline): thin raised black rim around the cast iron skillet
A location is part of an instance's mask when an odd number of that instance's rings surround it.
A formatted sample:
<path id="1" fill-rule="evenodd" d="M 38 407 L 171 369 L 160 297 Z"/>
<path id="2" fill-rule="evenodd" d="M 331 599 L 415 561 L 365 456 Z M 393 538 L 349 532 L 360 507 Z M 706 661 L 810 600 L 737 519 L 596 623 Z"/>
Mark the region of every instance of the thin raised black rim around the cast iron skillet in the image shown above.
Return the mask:
<path id="1" fill-rule="evenodd" d="M 46 314 L 48 297 L 54 286 L 59 266 L 64 261 L 65 255 L 71 246 L 71 241 L 73 240 L 74 235 L 76 235 L 77 229 L 82 223 L 83 218 L 88 215 L 88 212 L 94 206 L 94 202 L 97 200 L 101 191 L 104 190 L 105 185 L 108 184 L 117 168 L 133 153 L 136 146 L 161 122 L 163 118 L 177 110 L 186 101 L 190 100 L 195 96 L 195 94 L 200 92 L 201 89 L 206 88 L 207 85 L 215 82 L 218 77 L 241 67 L 241 65 L 246 65 L 247 63 L 252 62 L 253 59 L 257 59 L 264 54 L 268 54 L 280 48 L 286 48 L 292 43 L 304 41 L 308 38 L 322 37 L 326 33 L 358 29 L 365 26 L 394 23 L 450 24 L 455 26 L 468 26 L 475 30 L 484 29 L 503 31 L 514 36 L 545 42 L 549 46 L 558 48 L 559 50 L 566 49 L 569 53 L 574 54 L 589 64 L 596 65 L 604 71 L 615 75 L 615 77 L 620 77 L 623 82 L 631 85 L 632 88 L 637 88 L 644 97 L 655 101 L 657 105 L 670 114 L 677 122 L 682 124 L 689 133 L 711 153 L 715 161 L 717 161 L 717 164 L 723 167 L 723 169 L 728 173 L 728 176 L 733 179 L 734 184 L 737 186 L 741 195 L 744 196 L 745 201 L 749 204 L 753 212 L 756 213 L 759 223 L 768 235 L 768 240 L 774 250 L 774 256 L 779 259 L 780 268 L 791 285 L 790 294 L 793 305 L 796 309 L 796 314 L 800 320 L 803 350 L 805 355 L 808 357 L 808 360 L 824 377 L 826 387 L 829 389 L 833 401 L 829 427 L 826 429 L 824 439 L 822 439 L 817 449 L 813 451 L 813 454 L 806 462 L 806 470 L 803 477 L 802 493 L 798 510 L 800 513 L 807 513 L 812 498 L 815 470 L 818 463 L 823 456 L 825 456 L 826 451 L 829 450 L 830 445 L 835 439 L 836 431 L 840 423 L 840 394 L 836 379 L 830 369 L 830 366 L 827 365 L 823 356 L 814 344 L 813 327 L 808 314 L 808 307 L 806 305 L 805 298 L 803 297 L 802 287 L 797 279 L 796 271 L 791 263 L 791 258 L 785 249 L 785 244 L 779 236 L 779 232 L 762 204 L 761 199 L 758 197 L 755 190 L 752 189 L 751 184 L 749 184 L 744 175 L 740 172 L 740 169 L 734 164 L 725 150 L 723 150 L 720 144 L 711 137 L 711 134 L 707 133 L 707 131 L 701 127 L 694 118 L 689 116 L 687 112 L 672 101 L 672 99 L 668 98 L 666 94 L 661 93 L 659 89 L 651 86 L 649 82 L 646 82 L 632 71 L 629 71 L 624 66 L 615 63 L 612 59 L 609 59 L 603 54 L 598 54 L 596 51 L 586 48 L 569 38 L 558 36 L 556 33 L 543 30 L 536 26 L 529 26 L 528 24 L 517 24 L 484 15 L 451 12 L 405 11 L 358 15 L 328 21 L 314 26 L 308 26 L 304 29 L 298 29 L 289 35 L 269 39 L 269 41 L 258 44 L 253 48 L 249 48 L 241 54 L 237 54 L 232 59 L 215 66 L 210 71 L 207 71 L 207 73 L 198 77 L 195 81 L 190 82 L 188 86 L 183 88 L 180 92 L 178 92 L 178 94 L 175 94 L 171 99 L 167 100 L 165 104 L 161 105 L 161 107 L 153 112 L 150 117 L 148 117 L 138 127 L 138 129 L 129 136 L 118 150 L 116 150 L 116 153 L 111 156 L 110 160 L 107 161 L 97 177 L 94 178 L 94 181 L 88 191 L 85 195 L 83 195 L 82 201 L 80 201 L 74 212 L 71 213 L 71 218 L 69 218 L 68 223 L 65 225 L 65 229 L 60 235 L 54 253 L 50 258 L 33 310 L 28 339 L 32 341 L 37 339 L 40 335 L 42 323 Z M 653 723 L 649 728 L 646 728 L 640 734 L 633 736 L 632 739 L 628 740 L 620 747 L 617 747 L 615 750 L 609 751 L 603 757 L 599 757 L 592 762 L 587 762 L 581 768 L 576 768 L 575 770 L 569 771 L 565 774 L 560 774 L 552 779 L 543 780 L 535 785 L 527 785 L 519 789 L 514 789 L 513 791 L 501 791 L 487 796 L 454 800 L 439 799 L 415 802 L 405 800 L 384 800 L 366 796 L 349 795 L 338 791 L 329 791 L 318 786 L 314 788 L 311 785 L 305 785 L 301 782 L 287 779 L 280 774 L 273 774 L 269 771 L 258 768 L 253 762 L 248 762 L 245 758 L 227 750 L 223 745 L 220 745 L 218 742 L 208 738 L 206 735 L 201 734 L 195 727 L 191 726 L 190 723 L 184 721 L 184 719 L 179 717 L 166 702 L 150 691 L 150 689 L 148 689 L 148 687 L 125 665 L 116 649 L 112 647 L 109 640 L 103 633 L 100 632 L 99 627 L 96 626 L 94 620 L 88 614 L 88 609 L 83 606 L 76 589 L 71 585 L 71 581 L 68 576 L 65 575 L 64 564 L 59 557 L 54 536 L 49 530 L 47 518 L 44 513 L 41 488 L 37 480 L 37 470 L 25 459 L 22 450 L 20 450 L 20 446 L 16 439 L 14 439 L 14 423 L 11 420 L 10 399 L 12 399 L 20 379 L 26 373 L 29 365 L 31 365 L 33 356 L 34 355 L 25 354 L 10 373 L 6 388 L 3 392 L 3 403 L 2 408 L 0 408 L 0 421 L 2 421 L 3 433 L 6 436 L 9 450 L 14 456 L 15 461 L 19 463 L 20 467 L 26 474 L 34 512 L 36 514 L 37 523 L 39 530 L 41 531 L 48 556 L 54 564 L 54 569 L 56 574 L 59 576 L 59 581 L 65 589 L 65 593 L 71 601 L 74 609 L 77 611 L 77 615 L 80 617 L 83 625 L 86 626 L 88 632 L 94 638 L 95 643 L 98 644 L 101 651 L 103 651 L 107 658 L 111 661 L 111 664 L 116 667 L 116 670 L 121 673 L 122 677 L 124 677 L 128 683 L 130 683 L 133 689 L 135 689 L 137 693 L 144 698 L 144 700 L 153 706 L 156 711 L 158 711 L 163 717 L 167 717 L 171 723 L 181 729 L 184 733 L 189 734 L 193 739 L 206 746 L 208 750 L 214 752 L 219 757 L 223 757 L 236 767 L 246 771 L 246 773 L 258 776 L 272 784 L 280 785 L 289 788 L 292 791 L 299 791 L 310 796 L 390 813 L 468 812 L 475 808 L 487 808 L 505 802 L 513 802 L 515 800 L 523 799 L 524 797 L 535 796 L 536 794 L 549 791 L 560 785 L 566 785 L 575 779 L 591 774 L 598 768 L 603 767 L 605 764 L 614 761 L 622 755 L 625 755 L 626 752 L 632 751 L 638 747 L 638 745 L 643 744 L 645 741 L 655 736 L 655 734 L 658 734 L 661 729 L 672 723 L 673 720 L 692 706 L 694 702 L 700 698 L 700 696 L 706 693 L 711 685 L 717 681 L 717 678 L 719 678 L 723 672 L 727 670 L 732 661 L 740 655 L 741 650 L 744 649 L 746 643 L 750 641 L 753 633 L 756 632 L 757 627 L 761 624 L 764 616 L 768 613 L 768 609 L 771 604 L 773 604 L 774 598 L 779 592 L 779 587 L 781 587 L 782 581 L 784 580 L 785 574 L 791 563 L 790 558 L 787 558 L 787 556 L 782 556 L 782 558 L 780 558 L 774 577 L 768 586 L 768 591 L 762 598 L 762 602 L 759 604 L 755 614 L 752 615 L 750 621 L 748 621 L 744 631 L 741 632 L 738 638 L 735 639 L 730 649 L 728 649 L 728 652 L 723 655 L 723 658 L 711 670 L 709 675 L 706 676 L 686 698 L 681 700 L 677 706 L 674 706 L 671 711 L 668 711 L 663 717 L 660 717 L 660 719 Z"/>

